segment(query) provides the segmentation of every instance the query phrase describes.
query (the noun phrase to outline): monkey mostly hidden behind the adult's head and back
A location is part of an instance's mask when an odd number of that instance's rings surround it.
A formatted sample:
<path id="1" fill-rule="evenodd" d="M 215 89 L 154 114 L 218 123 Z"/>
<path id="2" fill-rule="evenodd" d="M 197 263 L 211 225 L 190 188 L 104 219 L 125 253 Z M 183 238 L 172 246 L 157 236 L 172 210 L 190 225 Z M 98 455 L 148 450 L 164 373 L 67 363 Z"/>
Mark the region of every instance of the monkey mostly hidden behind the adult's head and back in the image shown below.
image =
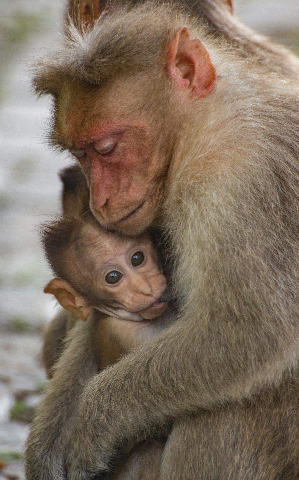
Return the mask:
<path id="1" fill-rule="evenodd" d="M 134 7 L 144 3 L 144 0 L 131 0 L 126 3 Z M 231 0 L 181 0 L 173 3 L 179 5 L 179 10 L 185 9 L 192 16 L 200 18 L 206 24 L 209 34 L 220 36 L 227 40 L 228 45 L 238 48 L 244 60 L 258 62 L 261 65 L 266 63 L 268 70 L 294 78 L 299 77 L 298 58 L 287 48 L 275 45 L 265 36 L 242 24 L 233 14 Z M 86 4 L 87 17 L 84 13 Z M 122 4 L 120 0 L 111 2 L 70 0 L 68 20 L 71 19 L 79 28 L 89 28 L 100 15 L 120 9 Z"/>

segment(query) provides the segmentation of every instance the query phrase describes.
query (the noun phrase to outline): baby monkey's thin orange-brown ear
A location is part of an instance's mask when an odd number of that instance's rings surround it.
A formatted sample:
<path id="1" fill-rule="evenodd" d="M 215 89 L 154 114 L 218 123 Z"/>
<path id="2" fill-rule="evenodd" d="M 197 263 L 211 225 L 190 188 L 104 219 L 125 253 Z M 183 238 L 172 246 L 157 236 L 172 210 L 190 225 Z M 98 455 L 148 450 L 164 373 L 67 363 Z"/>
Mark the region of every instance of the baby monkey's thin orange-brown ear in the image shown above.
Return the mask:
<path id="1" fill-rule="evenodd" d="M 69 282 L 60 278 L 53 278 L 44 289 L 45 293 L 51 293 L 56 297 L 61 307 L 74 313 L 81 320 L 86 320 L 90 313 L 87 301 L 78 295 Z"/>

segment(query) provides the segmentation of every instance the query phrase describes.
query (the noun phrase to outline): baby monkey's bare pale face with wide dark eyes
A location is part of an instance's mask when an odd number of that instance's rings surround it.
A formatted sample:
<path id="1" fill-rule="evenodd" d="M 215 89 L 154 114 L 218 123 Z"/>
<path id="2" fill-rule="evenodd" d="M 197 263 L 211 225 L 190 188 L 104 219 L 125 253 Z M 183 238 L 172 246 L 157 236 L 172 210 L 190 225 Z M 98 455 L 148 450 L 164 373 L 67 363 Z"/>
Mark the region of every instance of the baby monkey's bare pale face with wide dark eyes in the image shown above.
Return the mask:
<path id="1" fill-rule="evenodd" d="M 101 262 L 96 265 L 100 305 L 138 312 L 147 320 L 160 316 L 166 308 L 166 302 L 159 299 L 167 281 L 151 240 L 114 239 L 106 248 L 105 258 L 102 251 Z"/>

